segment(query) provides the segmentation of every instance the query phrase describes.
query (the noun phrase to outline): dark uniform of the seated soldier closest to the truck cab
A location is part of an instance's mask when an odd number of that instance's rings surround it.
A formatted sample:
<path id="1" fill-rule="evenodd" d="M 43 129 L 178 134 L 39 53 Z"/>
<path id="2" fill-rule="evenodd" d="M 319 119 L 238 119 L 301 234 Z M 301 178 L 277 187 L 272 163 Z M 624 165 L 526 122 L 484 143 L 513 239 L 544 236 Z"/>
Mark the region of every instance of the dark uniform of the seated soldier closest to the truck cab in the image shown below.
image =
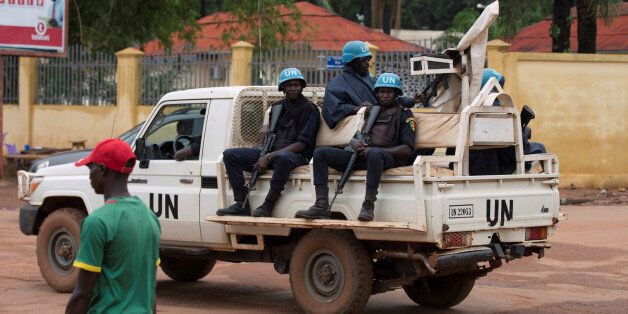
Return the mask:
<path id="1" fill-rule="evenodd" d="M 300 154 L 283 151 L 271 160 L 269 167 L 273 169 L 273 178 L 270 181 L 270 187 L 280 192 L 288 182 L 290 171 L 306 165 L 312 158 L 320 118 L 316 106 L 304 96 L 299 97 L 295 104 L 282 100 L 274 106 L 283 106 L 283 109 L 275 127 L 276 138 L 272 151 L 280 150 L 296 142 L 306 144 L 305 151 Z M 244 188 L 242 172 L 253 171 L 253 165 L 259 159 L 260 152 L 259 148 L 229 148 L 223 152 L 223 162 L 231 187 Z"/>

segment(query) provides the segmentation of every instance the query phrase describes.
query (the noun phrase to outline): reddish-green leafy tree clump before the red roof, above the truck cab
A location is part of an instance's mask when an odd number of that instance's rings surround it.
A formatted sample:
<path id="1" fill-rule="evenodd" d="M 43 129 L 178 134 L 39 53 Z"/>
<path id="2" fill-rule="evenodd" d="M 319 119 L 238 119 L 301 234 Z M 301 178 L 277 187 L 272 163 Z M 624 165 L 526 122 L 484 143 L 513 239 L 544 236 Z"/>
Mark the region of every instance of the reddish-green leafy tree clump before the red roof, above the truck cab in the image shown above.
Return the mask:
<path id="1" fill-rule="evenodd" d="M 282 14 L 282 8 L 291 13 Z M 226 1 L 224 9 L 237 21 L 229 23 L 222 35 L 225 44 L 238 39 L 250 41 L 260 49 L 272 49 L 283 44 L 289 33 L 301 32 L 304 26 L 294 0 Z"/>

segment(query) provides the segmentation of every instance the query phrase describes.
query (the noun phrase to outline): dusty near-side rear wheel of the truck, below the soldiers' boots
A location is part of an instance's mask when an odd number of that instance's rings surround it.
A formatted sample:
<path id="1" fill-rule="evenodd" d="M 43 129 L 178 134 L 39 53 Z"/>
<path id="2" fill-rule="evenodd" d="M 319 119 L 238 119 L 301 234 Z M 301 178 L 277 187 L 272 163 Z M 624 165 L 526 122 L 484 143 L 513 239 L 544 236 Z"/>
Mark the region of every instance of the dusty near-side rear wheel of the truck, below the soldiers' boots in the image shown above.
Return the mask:
<path id="1" fill-rule="evenodd" d="M 290 287 L 307 313 L 360 312 L 373 290 L 371 258 L 351 232 L 311 231 L 292 253 Z"/>

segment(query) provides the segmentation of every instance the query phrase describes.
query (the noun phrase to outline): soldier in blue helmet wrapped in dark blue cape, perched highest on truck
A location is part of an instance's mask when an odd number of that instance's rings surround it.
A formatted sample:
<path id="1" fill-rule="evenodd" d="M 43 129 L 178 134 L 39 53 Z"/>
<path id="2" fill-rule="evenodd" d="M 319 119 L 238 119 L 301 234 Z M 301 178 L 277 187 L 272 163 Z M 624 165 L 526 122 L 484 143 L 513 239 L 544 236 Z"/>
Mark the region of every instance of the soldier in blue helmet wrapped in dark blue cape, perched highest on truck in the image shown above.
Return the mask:
<path id="1" fill-rule="evenodd" d="M 360 107 L 375 104 L 377 97 L 373 92 L 375 78 L 369 74 L 371 52 L 365 42 L 353 40 L 342 48 L 342 73 L 327 83 L 323 99 L 323 119 L 330 128 L 334 128 L 344 117 L 356 114 Z M 401 95 L 399 95 L 401 96 Z M 413 107 L 419 100 L 418 95 L 400 98 L 404 107 Z"/>

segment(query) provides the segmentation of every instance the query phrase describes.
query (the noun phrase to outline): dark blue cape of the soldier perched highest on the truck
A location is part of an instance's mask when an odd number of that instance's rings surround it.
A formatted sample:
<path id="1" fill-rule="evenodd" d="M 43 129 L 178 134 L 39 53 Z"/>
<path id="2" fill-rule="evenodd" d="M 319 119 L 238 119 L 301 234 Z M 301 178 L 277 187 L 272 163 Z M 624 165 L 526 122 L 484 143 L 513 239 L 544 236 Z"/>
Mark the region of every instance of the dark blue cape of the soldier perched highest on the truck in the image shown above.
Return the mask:
<path id="1" fill-rule="evenodd" d="M 355 107 L 363 102 L 377 103 L 373 92 L 376 79 L 370 74 L 361 76 L 350 67 L 345 67 L 342 74 L 334 77 L 325 87 L 323 98 L 323 119 L 327 126 L 334 128 L 338 121 L 351 115 Z M 402 106 L 411 108 L 414 101 L 410 98 L 399 97 Z"/>

